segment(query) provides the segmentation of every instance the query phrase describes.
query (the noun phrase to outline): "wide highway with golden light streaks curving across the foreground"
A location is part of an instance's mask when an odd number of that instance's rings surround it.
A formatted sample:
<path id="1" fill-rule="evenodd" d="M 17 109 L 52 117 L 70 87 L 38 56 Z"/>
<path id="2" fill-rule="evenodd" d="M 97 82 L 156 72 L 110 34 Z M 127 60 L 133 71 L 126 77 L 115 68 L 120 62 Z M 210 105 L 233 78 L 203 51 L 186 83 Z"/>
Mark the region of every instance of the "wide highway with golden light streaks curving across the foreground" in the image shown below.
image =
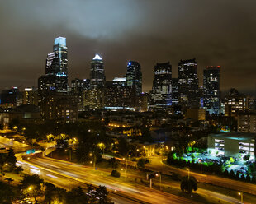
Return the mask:
<path id="1" fill-rule="evenodd" d="M 31 167 L 29 163 L 34 167 Z M 48 158 L 31 158 L 29 163 L 25 162 L 22 166 L 26 170 L 35 169 L 35 167 L 40 168 L 39 174 L 42 178 L 62 188 L 70 189 L 77 185 L 85 186 L 86 183 L 97 186 L 104 185 L 111 191 L 111 198 L 116 203 L 197 203 L 183 197 L 145 188 L 141 185 L 122 183 L 116 181 L 115 178 L 111 178 L 111 176 L 103 176 L 105 173 L 95 174 L 92 169 L 82 168 L 81 165 L 69 162 Z M 35 173 L 35 170 L 32 171 Z M 109 175 L 109 173 L 107 174 Z"/>

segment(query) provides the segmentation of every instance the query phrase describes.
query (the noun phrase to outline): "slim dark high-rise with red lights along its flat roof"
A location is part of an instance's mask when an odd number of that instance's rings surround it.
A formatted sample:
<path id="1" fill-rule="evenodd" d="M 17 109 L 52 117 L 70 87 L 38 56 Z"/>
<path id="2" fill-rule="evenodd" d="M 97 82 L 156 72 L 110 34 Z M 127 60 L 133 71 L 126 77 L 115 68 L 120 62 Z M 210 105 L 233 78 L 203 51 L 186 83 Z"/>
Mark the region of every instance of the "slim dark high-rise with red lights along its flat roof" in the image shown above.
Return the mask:
<path id="1" fill-rule="evenodd" d="M 220 66 L 203 71 L 204 108 L 209 114 L 220 114 Z"/>

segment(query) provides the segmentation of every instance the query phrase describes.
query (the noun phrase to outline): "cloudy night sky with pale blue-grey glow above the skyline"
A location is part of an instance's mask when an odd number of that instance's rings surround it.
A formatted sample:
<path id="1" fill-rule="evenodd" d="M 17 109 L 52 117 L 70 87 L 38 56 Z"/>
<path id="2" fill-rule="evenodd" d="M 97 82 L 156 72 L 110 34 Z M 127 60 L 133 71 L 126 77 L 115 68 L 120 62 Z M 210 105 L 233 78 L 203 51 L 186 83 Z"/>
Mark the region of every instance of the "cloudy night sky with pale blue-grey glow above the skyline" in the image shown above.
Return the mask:
<path id="1" fill-rule="evenodd" d="M 142 67 L 149 91 L 155 63 L 197 58 L 198 76 L 221 66 L 220 90 L 256 92 L 255 0 L 0 0 L 0 90 L 37 86 L 55 37 L 67 38 L 69 81 L 89 77 L 99 53 L 107 80 Z"/>

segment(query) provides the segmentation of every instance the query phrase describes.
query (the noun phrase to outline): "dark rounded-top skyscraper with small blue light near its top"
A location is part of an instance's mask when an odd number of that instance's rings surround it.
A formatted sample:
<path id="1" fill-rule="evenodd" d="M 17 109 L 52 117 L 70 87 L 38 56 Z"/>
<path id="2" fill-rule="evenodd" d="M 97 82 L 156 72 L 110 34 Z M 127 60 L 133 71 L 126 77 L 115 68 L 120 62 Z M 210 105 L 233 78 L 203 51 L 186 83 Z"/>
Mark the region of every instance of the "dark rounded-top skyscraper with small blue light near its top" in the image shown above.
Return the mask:
<path id="1" fill-rule="evenodd" d="M 126 72 L 127 86 L 135 86 L 136 95 L 139 96 L 142 92 L 142 73 L 140 63 L 129 61 Z"/>

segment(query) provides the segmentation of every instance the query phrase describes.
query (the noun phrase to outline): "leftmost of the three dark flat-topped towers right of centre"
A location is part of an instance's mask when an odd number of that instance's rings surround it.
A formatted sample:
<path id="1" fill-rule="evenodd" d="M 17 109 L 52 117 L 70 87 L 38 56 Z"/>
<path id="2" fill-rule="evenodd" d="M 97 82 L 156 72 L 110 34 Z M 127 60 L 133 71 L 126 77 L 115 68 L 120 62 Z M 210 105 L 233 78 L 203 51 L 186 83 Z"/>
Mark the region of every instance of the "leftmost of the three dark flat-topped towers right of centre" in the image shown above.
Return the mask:
<path id="1" fill-rule="evenodd" d="M 172 105 L 172 65 L 157 63 L 154 66 L 154 81 L 151 92 L 151 106 L 167 109 Z"/>

